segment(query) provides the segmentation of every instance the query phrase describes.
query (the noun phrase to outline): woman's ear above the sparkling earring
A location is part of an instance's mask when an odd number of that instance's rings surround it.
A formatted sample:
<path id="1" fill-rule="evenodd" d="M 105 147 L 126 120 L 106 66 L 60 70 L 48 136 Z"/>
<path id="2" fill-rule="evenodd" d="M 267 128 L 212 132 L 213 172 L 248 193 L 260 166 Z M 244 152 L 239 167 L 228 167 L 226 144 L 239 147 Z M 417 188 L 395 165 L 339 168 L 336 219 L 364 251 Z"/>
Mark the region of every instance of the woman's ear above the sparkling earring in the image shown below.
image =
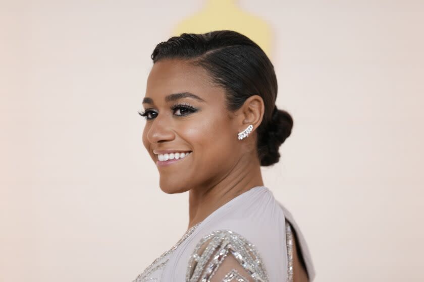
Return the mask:
<path id="1" fill-rule="evenodd" d="M 243 106 L 237 110 L 238 113 L 238 132 L 246 129 L 249 124 L 253 125 L 253 130 L 260 125 L 263 119 L 265 111 L 265 104 L 263 103 L 262 97 L 259 95 L 253 95 L 244 101 Z"/>

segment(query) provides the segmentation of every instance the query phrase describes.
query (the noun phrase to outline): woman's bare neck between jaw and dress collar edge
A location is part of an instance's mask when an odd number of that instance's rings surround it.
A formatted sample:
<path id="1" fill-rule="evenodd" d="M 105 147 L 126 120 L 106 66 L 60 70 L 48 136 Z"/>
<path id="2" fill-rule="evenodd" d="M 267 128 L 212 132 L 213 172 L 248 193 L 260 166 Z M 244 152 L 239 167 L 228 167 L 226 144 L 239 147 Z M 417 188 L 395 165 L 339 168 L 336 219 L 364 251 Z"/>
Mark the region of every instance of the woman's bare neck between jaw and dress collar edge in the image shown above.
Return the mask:
<path id="1" fill-rule="evenodd" d="M 219 207 L 256 186 L 263 186 L 260 163 L 240 160 L 227 176 L 217 183 L 189 191 L 188 229 L 203 221 Z M 253 158 L 257 160 L 257 158 Z M 241 165 L 243 164 L 243 165 Z"/>

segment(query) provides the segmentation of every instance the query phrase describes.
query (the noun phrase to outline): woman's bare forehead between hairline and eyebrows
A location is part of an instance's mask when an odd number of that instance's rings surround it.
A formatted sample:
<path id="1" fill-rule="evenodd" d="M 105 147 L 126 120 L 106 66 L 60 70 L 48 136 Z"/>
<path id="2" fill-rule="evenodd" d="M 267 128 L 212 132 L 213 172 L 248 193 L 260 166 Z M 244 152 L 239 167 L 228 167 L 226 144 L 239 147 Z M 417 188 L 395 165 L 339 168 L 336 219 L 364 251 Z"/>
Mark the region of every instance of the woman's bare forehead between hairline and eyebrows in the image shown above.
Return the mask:
<path id="1" fill-rule="evenodd" d="M 163 102 L 173 93 L 190 92 L 205 101 L 217 101 L 224 97 L 224 89 L 210 82 L 207 71 L 188 60 L 163 59 L 153 64 L 147 78 L 145 97 Z"/>

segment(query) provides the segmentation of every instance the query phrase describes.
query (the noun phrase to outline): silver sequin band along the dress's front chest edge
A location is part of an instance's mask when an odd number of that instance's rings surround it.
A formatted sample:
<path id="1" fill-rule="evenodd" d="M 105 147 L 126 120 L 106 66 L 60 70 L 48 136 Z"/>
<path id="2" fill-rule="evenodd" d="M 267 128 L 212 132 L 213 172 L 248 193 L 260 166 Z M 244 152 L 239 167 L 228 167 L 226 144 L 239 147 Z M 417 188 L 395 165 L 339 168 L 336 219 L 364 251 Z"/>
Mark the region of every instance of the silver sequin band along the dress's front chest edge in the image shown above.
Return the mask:
<path id="1" fill-rule="evenodd" d="M 133 282 L 157 282 L 157 278 L 153 278 L 150 275 L 154 273 L 158 269 L 162 269 L 165 267 L 169 260 L 169 256 L 178 248 L 179 245 L 181 245 L 182 242 L 184 242 L 185 239 L 187 239 L 188 236 L 193 233 L 193 231 L 201 224 L 199 222 L 198 224 L 192 226 L 187 232 L 181 237 L 181 239 L 177 242 L 177 244 L 174 245 L 170 250 L 164 252 L 160 257 L 156 258 L 149 266 L 146 267 L 146 269 L 143 270 L 134 280 Z M 164 261 L 162 261 L 164 260 Z M 150 277 L 149 277 L 150 276 Z"/>

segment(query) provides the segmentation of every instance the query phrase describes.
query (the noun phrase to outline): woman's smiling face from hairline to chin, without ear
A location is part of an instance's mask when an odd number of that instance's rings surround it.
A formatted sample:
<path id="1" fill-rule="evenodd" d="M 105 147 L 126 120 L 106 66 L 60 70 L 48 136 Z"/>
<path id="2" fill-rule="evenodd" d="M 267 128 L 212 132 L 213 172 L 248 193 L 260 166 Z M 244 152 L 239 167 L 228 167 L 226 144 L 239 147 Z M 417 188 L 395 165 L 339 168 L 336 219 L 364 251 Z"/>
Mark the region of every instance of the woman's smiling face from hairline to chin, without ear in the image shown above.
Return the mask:
<path id="1" fill-rule="evenodd" d="M 234 118 L 225 101 L 224 89 L 210 84 L 202 67 L 181 59 L 154 63 L 143 100 L 143 145 L 164 192 L 210 187 L 234 168 L 240 158 L 240 117 Z M 165 152 L 173 154 L 158 155 Z M 187 152 L 184 158 L 178 154 Z"/>

